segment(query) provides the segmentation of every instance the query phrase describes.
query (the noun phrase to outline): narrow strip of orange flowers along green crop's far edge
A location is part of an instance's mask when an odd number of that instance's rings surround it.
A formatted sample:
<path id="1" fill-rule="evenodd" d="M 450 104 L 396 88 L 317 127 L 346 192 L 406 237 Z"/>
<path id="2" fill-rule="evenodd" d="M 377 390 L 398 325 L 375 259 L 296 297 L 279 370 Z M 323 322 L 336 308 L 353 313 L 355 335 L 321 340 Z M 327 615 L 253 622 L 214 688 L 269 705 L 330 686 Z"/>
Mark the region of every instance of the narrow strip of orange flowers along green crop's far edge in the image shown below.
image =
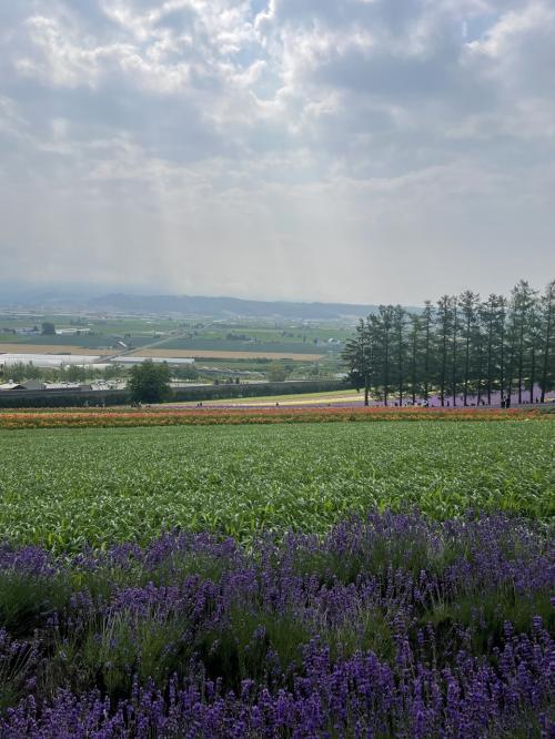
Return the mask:
<path id="1" fill-rule="evenodd" d="M 168 411 L 8 411 L 0 412 L 0 429 L 19 428 L 111 428 L 120 426 L 209 426 L 283 423 L 333 423 L 371 421 L 523 421 L 548 418 L 536 408 L 184 408 Z"/>

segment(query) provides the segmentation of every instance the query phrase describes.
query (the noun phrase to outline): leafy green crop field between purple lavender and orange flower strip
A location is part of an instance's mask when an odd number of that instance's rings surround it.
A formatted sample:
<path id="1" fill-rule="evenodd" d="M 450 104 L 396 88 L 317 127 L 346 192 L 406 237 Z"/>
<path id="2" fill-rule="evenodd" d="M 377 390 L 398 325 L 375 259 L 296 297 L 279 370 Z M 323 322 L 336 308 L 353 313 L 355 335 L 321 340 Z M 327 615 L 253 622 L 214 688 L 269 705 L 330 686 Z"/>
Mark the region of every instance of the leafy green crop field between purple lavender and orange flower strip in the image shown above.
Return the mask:
<path id="1" fill-rule="evenodd" d="M 0 433 L 2 538 L 74 549 L 172 527 L 248 541 L 350 512 L 555 512 L 555 424 L 38 429 Z"/>

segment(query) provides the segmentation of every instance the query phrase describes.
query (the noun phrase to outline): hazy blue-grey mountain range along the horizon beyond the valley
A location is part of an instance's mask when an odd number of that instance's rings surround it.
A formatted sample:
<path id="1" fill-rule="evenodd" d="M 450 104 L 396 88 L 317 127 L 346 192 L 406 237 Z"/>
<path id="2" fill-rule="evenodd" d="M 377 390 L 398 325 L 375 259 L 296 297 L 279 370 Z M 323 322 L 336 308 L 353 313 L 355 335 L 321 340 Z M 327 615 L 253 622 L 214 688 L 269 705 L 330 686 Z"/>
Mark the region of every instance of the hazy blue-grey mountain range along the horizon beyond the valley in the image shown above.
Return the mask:
<path id="1" fill-rule="evenodd" d="M 356 318 L 377 311 L 377 305 L 350 303 L 302 303 L 253 301 L 203 295 L 91 294 L 91 290 L 29 290 L 0 286 L 0 306 L 44 311 L 92 311 L 105 313 L 214 316 L 282 317 L 297 320 Z M 418 308 L 412 308 L 417 311 Z"/>

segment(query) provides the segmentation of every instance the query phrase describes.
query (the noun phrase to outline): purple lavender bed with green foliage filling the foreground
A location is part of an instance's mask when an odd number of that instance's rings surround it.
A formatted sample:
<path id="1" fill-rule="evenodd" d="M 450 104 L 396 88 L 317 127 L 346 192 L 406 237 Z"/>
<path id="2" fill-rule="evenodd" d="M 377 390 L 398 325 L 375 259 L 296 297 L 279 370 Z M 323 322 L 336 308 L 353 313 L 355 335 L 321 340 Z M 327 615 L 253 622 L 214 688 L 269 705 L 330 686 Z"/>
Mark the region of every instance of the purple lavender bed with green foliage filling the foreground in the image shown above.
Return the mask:
<path id="1" fill-rule="evenodd" d="M 554 566 L 503 516 L 3 548 L 0 737 L 551 737 Z"/>

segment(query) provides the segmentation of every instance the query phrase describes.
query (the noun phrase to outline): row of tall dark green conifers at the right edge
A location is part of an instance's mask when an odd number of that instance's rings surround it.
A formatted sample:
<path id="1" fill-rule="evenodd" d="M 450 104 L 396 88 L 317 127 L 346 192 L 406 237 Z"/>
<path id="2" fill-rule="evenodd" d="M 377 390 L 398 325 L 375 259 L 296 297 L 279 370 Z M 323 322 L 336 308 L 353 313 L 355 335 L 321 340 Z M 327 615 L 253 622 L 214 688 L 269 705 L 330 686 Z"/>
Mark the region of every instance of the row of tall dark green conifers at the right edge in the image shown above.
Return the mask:
<path id="1" fill-rule="evenodd" d="M 539 294 L 521 280 L 507 298 L 466 291 L 422 312 L 381 305 L 361 320 L 343 360 L 352 384 L 385 405 L 437 396 L 444 405 L 514 396 L 545 401 L 555 387 L 555 281 Z M 539 394 L 534 389 L 539 386 Z"/>

